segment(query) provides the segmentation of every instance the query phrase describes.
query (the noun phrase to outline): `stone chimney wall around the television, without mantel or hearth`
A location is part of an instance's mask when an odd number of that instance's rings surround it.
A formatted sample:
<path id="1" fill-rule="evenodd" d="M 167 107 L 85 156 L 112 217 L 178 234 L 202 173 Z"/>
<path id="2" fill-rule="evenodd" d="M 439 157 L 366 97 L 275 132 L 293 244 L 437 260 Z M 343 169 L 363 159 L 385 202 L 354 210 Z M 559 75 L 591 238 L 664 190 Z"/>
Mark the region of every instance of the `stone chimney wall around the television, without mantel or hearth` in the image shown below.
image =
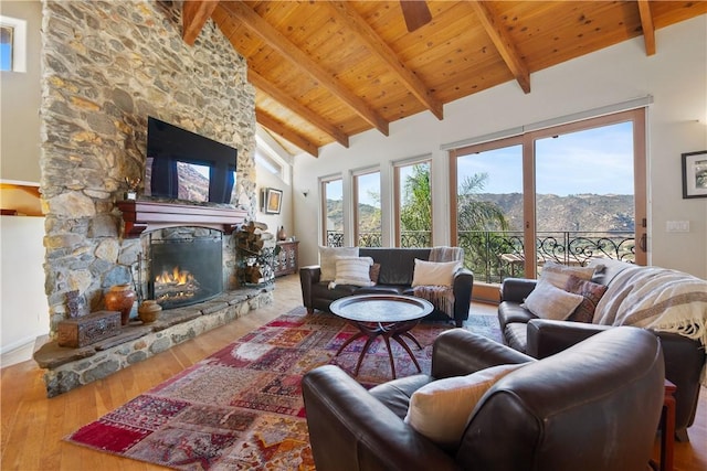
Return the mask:
<path id="1" fill-rule="evenodd" d="M 181 2 L 44 1 L 41 193 L 46 215 L 50 331 L 78 291 L 85 312 L 131 282 L 140 239 L 125 239 L 115 203 L 143 175 L 154 116 L 238 148 L 239 206 L 253 220 L 255 92 L 247 65 L 209 20 L 181 40 Z M 224 236 L 224 253 L 234 253 Z M 224 287 L 233 289 L 234 261 Z M 229 272 L 230 270 L 230 272 Z"/>

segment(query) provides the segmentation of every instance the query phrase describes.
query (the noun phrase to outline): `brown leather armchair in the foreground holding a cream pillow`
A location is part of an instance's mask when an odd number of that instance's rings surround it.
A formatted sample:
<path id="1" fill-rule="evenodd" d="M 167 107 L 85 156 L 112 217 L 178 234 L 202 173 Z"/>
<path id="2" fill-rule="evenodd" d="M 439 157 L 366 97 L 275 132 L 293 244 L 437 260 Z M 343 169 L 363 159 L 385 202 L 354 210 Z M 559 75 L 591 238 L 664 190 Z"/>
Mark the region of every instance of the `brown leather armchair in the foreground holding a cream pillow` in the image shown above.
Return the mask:
<path id="1" fill-rule="evenodd" d="M 437 378 L 528 364 L 481 398 L 455 450 L 403 421 L 411 395 Z M 303 395 L 318 471 L 644 471 L 664 395 L 659 342 L 616 328 L 536 361 L 462 329 L 434 343 L 431 375 L 366 390 L 337 366 L 308 372 Z"/>

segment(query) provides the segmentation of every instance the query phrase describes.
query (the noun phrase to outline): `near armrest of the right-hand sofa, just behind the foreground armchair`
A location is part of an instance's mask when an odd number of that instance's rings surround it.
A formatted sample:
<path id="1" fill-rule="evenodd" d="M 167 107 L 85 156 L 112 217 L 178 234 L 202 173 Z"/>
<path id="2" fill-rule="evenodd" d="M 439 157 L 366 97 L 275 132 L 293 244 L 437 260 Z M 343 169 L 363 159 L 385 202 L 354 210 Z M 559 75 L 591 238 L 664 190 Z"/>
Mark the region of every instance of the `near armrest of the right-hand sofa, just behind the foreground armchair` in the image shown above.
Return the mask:
<path id="1" fill-rule="evenodd" d="M 608 329 L 611 325 L 532 319 L 527 327 L 526 353 L 534 358 L 545 358 Z"/>

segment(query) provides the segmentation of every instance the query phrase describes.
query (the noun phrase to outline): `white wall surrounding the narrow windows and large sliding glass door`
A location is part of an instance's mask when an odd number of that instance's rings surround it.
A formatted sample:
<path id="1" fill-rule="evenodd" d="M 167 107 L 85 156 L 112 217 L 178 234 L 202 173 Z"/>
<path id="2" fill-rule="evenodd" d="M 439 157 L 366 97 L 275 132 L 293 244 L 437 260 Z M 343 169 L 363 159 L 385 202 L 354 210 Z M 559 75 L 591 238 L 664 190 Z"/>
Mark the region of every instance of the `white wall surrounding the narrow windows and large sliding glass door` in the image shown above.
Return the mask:
<path id="1" fill-rule="evenodd" d="M 707 17 L 656 32 L 657 54 L 646 56 L 643 39 L 535 73 L 531 93 L 507 83 L 445 105 L 444 120 L 430 113 L 392 122 L 390 137 L 371 130 L 350 139 L 349 149 L 326 146 L 320 157 L 295 159 L 295 231 L 300 264 L 317 263 L 319 211 L 317 179 L 381 164 L 383 202 L 390 201 L 390 162 L 414 156 L 433 158 L 435 244 L 449 243 L 447 154 L 445 143 L 529 125 L 545 119 L 652 95 L 648 110 L 650 263 L 707 278 L 707 199 L 683 200 L 680 153 L 707 149 Z M 699 122 L 697 122 L 699 120 Z M 312 194 L 304 199 L 302 190 Z M 383 225 L 391 226 L 383 204 Z M 352 233 L 345 212 L 345 231 Z M 665 232 L 666 221 L 690 222 L 690 232 Z M 348 225 L 348 227 L 347 227 Z M 350 243 L 350 240 L 349 240 Z"/>

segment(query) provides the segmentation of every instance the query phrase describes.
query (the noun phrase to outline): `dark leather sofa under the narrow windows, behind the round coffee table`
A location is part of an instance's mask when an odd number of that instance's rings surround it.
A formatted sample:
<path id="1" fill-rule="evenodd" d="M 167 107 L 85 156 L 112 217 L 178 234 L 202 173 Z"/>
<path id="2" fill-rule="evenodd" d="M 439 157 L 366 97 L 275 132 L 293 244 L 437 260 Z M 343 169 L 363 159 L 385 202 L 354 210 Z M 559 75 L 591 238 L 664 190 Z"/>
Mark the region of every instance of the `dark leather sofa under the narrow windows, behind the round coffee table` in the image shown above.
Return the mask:
<path id="1" fill-rule="evenodd" d="M 339 298 L 354 295 L 410 295 L 412 296 L 412 275 L 415 258 L 428 260 L 430 248 L 359 248 L 359 257 L 371 257 L 373 263 L 380 264 L 378 283 L 372 287 L 356 287 L 350 285 L 337 285 L 329 289 L 328 282 L 319 280 L 321 274 L 319 266 L 299 268 L 299 282 L 302 283 L 302 299 L 308 312 L 315 309 L 329 311 L 329 304 Z M 461 269 L 454 276 L 454 322 L 462 327 L 468 319 L 468 308 L 472 302 L 472 288 L 474 276 L 467 269 Z M 426 319 L 449 320 L 450 318 L 439 310 L 434 310 Z"/>

